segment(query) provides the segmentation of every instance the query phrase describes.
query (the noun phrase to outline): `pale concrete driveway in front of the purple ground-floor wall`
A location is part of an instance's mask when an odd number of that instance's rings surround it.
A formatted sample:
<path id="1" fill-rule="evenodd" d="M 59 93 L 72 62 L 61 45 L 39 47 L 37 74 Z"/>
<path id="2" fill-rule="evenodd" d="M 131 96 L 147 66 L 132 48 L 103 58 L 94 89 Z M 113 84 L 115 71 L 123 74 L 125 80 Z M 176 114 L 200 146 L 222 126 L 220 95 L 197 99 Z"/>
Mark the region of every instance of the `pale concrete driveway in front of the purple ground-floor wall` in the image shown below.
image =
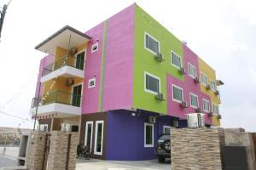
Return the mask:
<path id="1" fill-rule="evenodd" d="M 171 170 L 171 162 L 159 163 L 157 160 L 148 161 L 102 161 L 90 159 L 77 160 L 76 170 Z"/>

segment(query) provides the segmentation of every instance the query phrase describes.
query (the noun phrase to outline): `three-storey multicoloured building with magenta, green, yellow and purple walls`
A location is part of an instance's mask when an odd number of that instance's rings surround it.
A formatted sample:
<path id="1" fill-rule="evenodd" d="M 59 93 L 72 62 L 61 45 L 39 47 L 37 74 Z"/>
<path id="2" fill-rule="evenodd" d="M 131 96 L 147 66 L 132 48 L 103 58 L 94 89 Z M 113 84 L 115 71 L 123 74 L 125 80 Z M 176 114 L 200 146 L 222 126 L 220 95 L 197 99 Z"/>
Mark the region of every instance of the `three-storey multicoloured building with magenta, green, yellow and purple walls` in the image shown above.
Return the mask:
<path id="1" fill-rule="evenodd" d="M 154 146 L 187 114 L 219 126 L 215 71 L 136 3 L 89 31 L 64 26 L 36 49 L 32 116 L 43 129 L 80 133 L 93 157 L 155 158 Z"/>

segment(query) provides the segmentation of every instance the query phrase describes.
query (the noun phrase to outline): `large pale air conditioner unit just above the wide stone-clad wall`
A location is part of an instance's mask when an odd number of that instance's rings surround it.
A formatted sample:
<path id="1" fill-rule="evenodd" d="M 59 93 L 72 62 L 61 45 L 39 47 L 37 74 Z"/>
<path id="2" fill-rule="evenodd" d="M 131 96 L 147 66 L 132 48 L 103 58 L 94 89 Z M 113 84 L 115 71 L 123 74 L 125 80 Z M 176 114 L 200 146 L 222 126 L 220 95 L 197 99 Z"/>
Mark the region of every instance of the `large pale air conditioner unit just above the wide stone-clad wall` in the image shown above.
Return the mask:
<path id="1" fill-rule="evenodd" d="M 205 127 L 205 114 L 189 113 L 187 115 L 188 127 Z"/>

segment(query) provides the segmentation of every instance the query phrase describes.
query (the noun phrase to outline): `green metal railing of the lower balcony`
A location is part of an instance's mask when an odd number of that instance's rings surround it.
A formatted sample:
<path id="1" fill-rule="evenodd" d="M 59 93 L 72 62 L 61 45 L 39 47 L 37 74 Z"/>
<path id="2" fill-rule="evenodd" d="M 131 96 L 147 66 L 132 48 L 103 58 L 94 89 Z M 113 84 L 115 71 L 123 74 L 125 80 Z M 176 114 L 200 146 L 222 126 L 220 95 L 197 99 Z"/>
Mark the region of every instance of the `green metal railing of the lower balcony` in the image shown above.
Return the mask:
<path id="1" fill-rule="evenodd" d="M 48 96 L 44 96 L 44 98 L 33 98 L 32 99 L 32 108 L 37 105 L 49 105 L 53 103 L 64 104 L 64 105 L 73 105 L 80 107 L 81 105 L 81 95 L 78 94 L 69 94 L 67 92 L 55 91 L 53 93 L 49 93 Z"/>

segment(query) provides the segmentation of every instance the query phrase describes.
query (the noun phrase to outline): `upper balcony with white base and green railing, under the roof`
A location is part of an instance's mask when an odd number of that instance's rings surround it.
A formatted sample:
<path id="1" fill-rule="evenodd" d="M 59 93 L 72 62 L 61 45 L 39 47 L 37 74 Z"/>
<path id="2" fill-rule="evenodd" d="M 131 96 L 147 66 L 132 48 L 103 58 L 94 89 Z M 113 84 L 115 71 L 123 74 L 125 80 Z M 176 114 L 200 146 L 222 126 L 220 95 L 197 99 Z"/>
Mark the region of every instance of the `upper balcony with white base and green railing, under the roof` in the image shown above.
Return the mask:
<path id="1" fill-rule="evenodd" d="M 55 77 L 84 78 L 84 58 L 65 55 L 56 59 L 51 65 L 43 69 L 41 82 L 47 82 Z"/>

